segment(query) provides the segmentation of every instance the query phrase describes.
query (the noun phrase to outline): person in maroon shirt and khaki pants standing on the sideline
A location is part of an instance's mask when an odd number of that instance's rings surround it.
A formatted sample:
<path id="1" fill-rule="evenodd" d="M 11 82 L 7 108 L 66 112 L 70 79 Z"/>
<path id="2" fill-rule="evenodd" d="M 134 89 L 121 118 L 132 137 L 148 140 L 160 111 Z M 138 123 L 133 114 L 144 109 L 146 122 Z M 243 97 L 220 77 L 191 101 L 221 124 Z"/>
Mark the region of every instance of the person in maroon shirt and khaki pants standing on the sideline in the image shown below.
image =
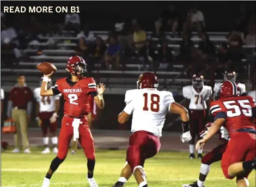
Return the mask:
<path id="1" fill-rule="evenodd" d="M 20 152 L 20 138 L 24 153 L 31 153 L 28 143 L 28 123 L 31 119 L 33 93 L 25 83 L 25 75 L 17 75 L 17 84 L 11 89 L 8 100 L 7 117 L 16 121 L 14 153 Z"/>

